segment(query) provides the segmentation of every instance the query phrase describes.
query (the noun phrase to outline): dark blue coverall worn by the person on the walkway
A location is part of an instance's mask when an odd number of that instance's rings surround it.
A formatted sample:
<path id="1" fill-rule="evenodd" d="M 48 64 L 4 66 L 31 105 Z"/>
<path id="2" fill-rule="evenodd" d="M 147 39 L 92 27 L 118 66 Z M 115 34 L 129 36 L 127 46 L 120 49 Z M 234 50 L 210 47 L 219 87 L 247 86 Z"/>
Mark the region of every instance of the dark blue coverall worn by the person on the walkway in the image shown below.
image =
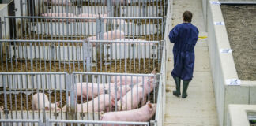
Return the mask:
<path id="1" fill-rule="evenodd" d="M 174 43 L 174 69 L 171 76 L 190 81 L 194 71 L 194 46 L 198 41 L 198 28 L 190 23 L 178 24 L 169 33 Z"/>

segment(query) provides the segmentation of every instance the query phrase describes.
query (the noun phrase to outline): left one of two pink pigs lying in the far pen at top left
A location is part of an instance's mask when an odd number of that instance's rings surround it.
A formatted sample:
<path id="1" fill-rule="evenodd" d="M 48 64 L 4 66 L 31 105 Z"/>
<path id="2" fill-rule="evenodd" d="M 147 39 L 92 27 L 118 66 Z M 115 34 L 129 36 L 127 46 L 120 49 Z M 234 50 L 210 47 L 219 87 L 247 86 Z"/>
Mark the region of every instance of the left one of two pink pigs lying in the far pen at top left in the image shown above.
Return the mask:
<path id="1" fill-rule="evenodd" d="M 43 17 L 77 17 L 73 13 L 43 13 Z M 68 19 L 69 22 L 74 22 L 76 19 Z M 47 21 L 50 21 L 50 19 L 47 19 Z M 52 19 L 52 21 L 66 21 L 66 19 Z"/>

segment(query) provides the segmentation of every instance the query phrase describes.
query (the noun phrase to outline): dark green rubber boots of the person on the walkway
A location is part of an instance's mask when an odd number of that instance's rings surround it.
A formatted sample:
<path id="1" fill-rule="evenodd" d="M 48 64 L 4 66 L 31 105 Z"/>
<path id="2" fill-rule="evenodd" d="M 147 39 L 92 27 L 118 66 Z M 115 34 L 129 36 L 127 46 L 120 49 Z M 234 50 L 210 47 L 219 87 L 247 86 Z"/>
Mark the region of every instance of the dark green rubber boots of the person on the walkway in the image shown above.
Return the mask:
<path id="1" fill-rule="evenodd" d="M 179 95 L 181 95 L 181 93 L 180 93 L 180 78 L 175 77 L 174 80 L 175 80 L 175 84 L 176 84 L 176 91 L 173 91 L 173 95 L 179 97 Z M 186 90 L 187 90 L 187 87 L 188 87 L 189 83 L 190 83 L 190 81 L 183 80 L 183 95 L 182 95 L 182 98 L 187 97 Z"/>

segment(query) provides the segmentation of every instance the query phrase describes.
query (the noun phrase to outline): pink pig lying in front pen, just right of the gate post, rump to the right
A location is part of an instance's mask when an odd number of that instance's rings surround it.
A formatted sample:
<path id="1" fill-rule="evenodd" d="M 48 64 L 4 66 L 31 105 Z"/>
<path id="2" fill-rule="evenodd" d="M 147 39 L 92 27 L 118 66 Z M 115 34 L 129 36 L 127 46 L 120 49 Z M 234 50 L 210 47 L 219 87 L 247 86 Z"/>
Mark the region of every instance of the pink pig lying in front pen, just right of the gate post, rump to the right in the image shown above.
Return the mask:
<path id="1" fill-rule="evenodd" d="M 115 106 L 115 100 L 111 97 L 111 95 L 103 94 L 94 98 L 89 102 L 85 102 L 83 104 L 77 104 L 77 112 L 81 113 L 93 113 L 93 112 L 101 112 L 101 111 L 110 111 L 112 106 Z M 66 112 L 66 105 L 62 108 L 63 112 Z"/>

